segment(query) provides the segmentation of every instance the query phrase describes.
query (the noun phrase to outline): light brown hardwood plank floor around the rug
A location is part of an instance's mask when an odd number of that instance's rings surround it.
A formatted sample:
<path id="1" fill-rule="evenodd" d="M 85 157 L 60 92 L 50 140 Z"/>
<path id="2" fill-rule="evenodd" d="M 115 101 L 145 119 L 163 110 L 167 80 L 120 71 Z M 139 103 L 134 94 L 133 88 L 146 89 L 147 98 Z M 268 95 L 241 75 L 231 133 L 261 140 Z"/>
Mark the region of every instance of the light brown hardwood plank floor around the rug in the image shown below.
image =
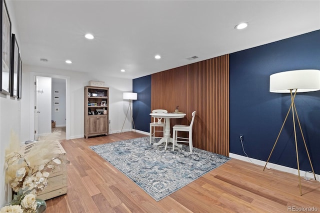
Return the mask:
<path id="1" fill-rule="evenodd" d="M 56 212 L 286 212 L 303 207 L 320 211 L 320 184 L 296 175 L 231 159 L 156 202 L 88 146 L 145 136 L 135 132 L 63 140 L 67 194 L 46 200 Z M 310 210 L 309 210 L 310 211 Z"/>

